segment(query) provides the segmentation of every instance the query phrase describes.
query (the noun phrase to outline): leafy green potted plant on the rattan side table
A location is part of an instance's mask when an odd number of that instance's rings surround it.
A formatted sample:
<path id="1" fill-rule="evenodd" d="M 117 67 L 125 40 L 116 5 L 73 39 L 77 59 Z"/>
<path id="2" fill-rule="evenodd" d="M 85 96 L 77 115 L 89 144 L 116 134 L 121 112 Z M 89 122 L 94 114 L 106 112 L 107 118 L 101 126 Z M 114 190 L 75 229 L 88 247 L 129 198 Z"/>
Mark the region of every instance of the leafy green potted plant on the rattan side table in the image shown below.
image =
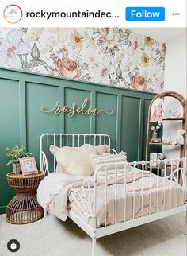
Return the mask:
<path id="1" fill-rule="evenodd" d="M 31 157 L 32 153 L 27 152 L 25 147 L 15 145 L 13 148 L 6 148 L 6 157 L 9 159 L 7 165 L 13 165 L 13 173 L 20 173 L 21 166 L 19 158 Z"/>

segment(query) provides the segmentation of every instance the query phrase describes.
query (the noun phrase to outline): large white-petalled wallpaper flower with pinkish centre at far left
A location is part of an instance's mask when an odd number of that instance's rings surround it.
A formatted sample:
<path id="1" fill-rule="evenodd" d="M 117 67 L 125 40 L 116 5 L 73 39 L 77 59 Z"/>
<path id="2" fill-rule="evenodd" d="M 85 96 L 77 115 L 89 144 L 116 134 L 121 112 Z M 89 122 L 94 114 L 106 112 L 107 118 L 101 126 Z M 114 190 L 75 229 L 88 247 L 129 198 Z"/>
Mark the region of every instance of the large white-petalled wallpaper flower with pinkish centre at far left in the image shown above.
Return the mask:
<path id="1" fill-rule="evenodd" d="M 19 55 L 27 55 L 31 51 L 30 45 L 21 41 L 23 34 L 20 29 L 11 29 L 7 40 L 0 38 L 0 66 L 7 64 L 9 68 L 21 68 Z"/>

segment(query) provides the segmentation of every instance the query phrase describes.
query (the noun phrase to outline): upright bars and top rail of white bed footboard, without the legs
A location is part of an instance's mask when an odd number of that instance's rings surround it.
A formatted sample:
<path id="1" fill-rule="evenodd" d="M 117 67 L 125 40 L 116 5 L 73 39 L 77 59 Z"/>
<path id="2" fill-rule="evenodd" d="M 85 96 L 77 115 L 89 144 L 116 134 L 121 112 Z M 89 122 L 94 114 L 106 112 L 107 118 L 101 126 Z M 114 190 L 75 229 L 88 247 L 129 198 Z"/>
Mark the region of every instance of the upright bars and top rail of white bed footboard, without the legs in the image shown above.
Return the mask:
<path id="1" fill-rule="evenodd" d="M 170 162 L 170 166 L 168 166 L 167 164 Z M 128 177 L 128 169 L 129 169 L 129 165 L 132 166 L 131 169 L 131 175 L 133 176 L 132 178 L 132 184 L 133 184 L 133 189 L 132 189 L 132 217 L 130 219 L 127 218 L 127 200 L 128 200 L 128 196 L 129 191 L 127 189 L 127 177 Z M 155 166 L 156 165 L 156 166 Z M 146 166 L 149 166 L 149 170 L 146 170 Z M 162 177 L 159 176 L 160 173 L 160 169 L 162 166 Z M 185 198 L 186 195 L 186 191 L 185 191 L 185 186 L 186 186 L 186 168 L 185 168 L 185 158 L 181 158 L 181 159 L 170 159 L 170 160 L 163 160 L 163 161 L 133 161 L 133 162 L 127 162 L 124 164 L 123 167 L 123 173 L 121 172 L 121 164 L 120 164 L 120 168 L 119 165 L 105 165 L 102 166 L 100 169 L 97 169 L 96 173 L 94 174 L 94 176 L 92 178 L 86 179 L 81 188 L 75 188 L 75 189 L 71 189 L 71 195 L 74 198 L 74 202 L 72 203 L 72 208 L 75 209 L 75 211 L 77 211 L 78 215 L 82 216 L 82 219 L 84 219 L 84 221 L 86 223 L 90 222 L 90 219 L 92 219 L 92 227 L 93 230 L 97 229 L 97 200 L 98 200 L 98 196 L 97 196 L 97 191 L 99 190 L 99 183 L 102 183 L 102 185 L 104 184 L 105 186 L 105 192 L 102 194 L 103 195 L 103 199 L 105 200 L 105 221 L 103 223 L 104 227 L 107 227 L 107 213 L 108 213 L 108 192 L 109 192 L 109 180 L 111 180 L 111 178 L 113 179 L 113 195 L 114 195 L 114 212 L 113 212 L 113 216 L 114 216 L 114 222 L 113 224 L 116 225 L 117 223 L 117 215 L 118 215 L 118 207 L 119 205 L 117 205 L 117 184 L 118 184 L 118 180 L 119 178 L 123 179 L 122 183 L 120 182 L 121 185 L 124 186 L 124 207 L 123 207 L 123 220 L 120 220 L 120 222 L 128 222 L 129 220 L 133 220 L 136 219 L 137 216 L 135 216 L 137 214 L 137 212 L 135 212 L 135 199 L 137 199 L 135 196 L 137 196 L 137 191 L 135 190 L 135 179 L 137 176 L 137 171 L 139 171 L 138 169 L 136 169 L 136 167 L 142 169 L 141 173 L 141 188 L 140 188 L 140 214 L 138 217 L 143 217 L 145 216 L 144 211 L 144 206 L 143 206 L 143 200 L 145 195 L 143 194 L 143 180 L 145 180 L 145 173 L 150 174 L 148 179 L 149 179 L 149 184 L 148 184 L 148 188 L 147 188 L 147 195 L 149 198 L 149 203 L 147 205 L 148 208 L 148 212 L 146 215 L 154 215 L 155 213 L 158 213 L 158 211 L 166 211 L 172 208 L 177 208 L 179 206 L 181 206 L 184 202 L 181 201 L 182 199 L 179 198 L 178 196 L 178 192 L 180 192 L 180 196 L 181 196 L 181 189 L 182 189 L 182 197 Z M 109 169 L 111 170 L 111 168 L 113 168 L 113 174 L 111 176 L 111 174 L 109 174 Z M 104 171 L 105 169 L 105 171 Z M 153 172 L 153 170 L 155 170 L 155 172 Z M 100 173 L 105 172 L 105 176 L 101 176 L 99 175 Z M 152 180 L 155 179 L 156 180 L 156 184 L 154 185 L 154 189 L 155 189 L 155 199 L 156 199 L 156 209 L 153 212 L 153 209 L 151 208 L 152 202 Z M 181 185 L 178 184 L 178 182 L 181 181 Z M 159 187 L 159 185 L 162 183 L 162 188 Z M 167 191 L 167 204 L 166 204 L 166 185 L 167 185 L 167 189 L 170 190 L 170 192 Z M 180 189 L 179 189 L 180 188 Z M 92 192 L 91 192 L 92 189 Z M 162 191 L 160 190 L 162 189 Z M 94 191 L 94 192 L 93 192 Z M 174 195 L 172 195 L 172 192 L 175 193 L 176 196 L 176 200 L 174 200 Z M 170 196 L 170 203 L 168 203 L 168 193 Z M 162 194 L 162 209 L 160 209 L 160 206 L 158 206 L 158 197 L 161 196 Z M 180 199 L 180 201 L 178 201 Z M 169 204 L 169 205 L 168 205 Z M 166 206 L 167 205 L 167 206 Z M 129 204 L 128 204 L 129 206 Z"/>

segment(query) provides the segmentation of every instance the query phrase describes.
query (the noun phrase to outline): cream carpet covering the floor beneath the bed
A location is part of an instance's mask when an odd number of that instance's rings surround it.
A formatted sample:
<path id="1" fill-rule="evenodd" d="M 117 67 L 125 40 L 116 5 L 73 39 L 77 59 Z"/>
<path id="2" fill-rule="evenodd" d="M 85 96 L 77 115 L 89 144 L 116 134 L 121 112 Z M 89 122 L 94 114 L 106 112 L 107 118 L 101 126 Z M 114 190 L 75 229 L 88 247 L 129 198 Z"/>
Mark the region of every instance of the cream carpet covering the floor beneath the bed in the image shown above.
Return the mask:
<path id="1" fill-rule="evenodd" d="M 36 223 L 12 225 L 0 215 L 0 256 L 89 256 L 91 239 L 71 219 L 48 215 Z M 161 219 L 97 240 L 98 256 L 186 256 L 185 213 Z M 21 248 L 10 253 L 6 244 Z"/>

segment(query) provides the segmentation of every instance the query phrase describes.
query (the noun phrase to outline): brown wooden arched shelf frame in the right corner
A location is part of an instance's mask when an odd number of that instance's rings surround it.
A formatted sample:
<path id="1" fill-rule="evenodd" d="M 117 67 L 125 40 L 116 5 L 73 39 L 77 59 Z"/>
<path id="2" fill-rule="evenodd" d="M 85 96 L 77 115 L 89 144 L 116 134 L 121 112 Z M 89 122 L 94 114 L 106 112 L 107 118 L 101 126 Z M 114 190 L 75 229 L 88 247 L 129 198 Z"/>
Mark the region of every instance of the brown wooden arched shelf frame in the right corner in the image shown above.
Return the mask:
<path id="1" fill-rule="evenodd" d="M 177 92 L 174 91 L 164 91 L 158 95 L 155 96 L 154 99 L 152 99 L 149 109 L 148 109 L 148 117 L 147 117 L 147 140 L 146 140 L 146 160 L 149 160 L 149 146 L 150 145 L 166 145 L 165 143 L 151 143 L 150 142 L 150 129 L 151 129 L 151 122 L 150 122 L 150 118 L 151 118 L 151 107 L 152 104 L 154 103 L 155 99 L 158 98 L 165 98 L 165 97 L 173 97 L 174 99 L 177 99 L 180 103 L 181 103 L 181 107 L 183 108 L 183 115 L 181 117 L 178 118 L 163 118 L 163 120 L 167 120 L 167 121 L 181 121 L 182 122 L 182 129 L 185 130 L 185 134 L 184 136 L 184 144 L 180 145 L 180 158 L 185 157 L 185 147 L 186 147 L 186 134 L 187 134 L 187 126 L 186 126 L 186 119 L 187 119 L 187 101 L 186 99 L 180 95 Z M 172 144 L 171 144 L 172 145 Z M 179 183 L 182 183 L 181 180 L 181 175 L 179 176 Z"/>

